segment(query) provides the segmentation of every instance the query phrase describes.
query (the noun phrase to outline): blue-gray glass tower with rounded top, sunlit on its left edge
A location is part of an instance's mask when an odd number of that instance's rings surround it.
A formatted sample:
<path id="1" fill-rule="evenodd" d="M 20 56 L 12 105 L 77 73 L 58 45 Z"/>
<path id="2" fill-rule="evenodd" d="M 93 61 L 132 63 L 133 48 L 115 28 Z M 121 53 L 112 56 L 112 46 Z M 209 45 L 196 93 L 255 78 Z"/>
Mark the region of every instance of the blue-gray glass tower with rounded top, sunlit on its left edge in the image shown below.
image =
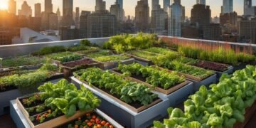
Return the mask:
<path id="1" fill-rule="evenodd" d="M 181 36 L 182 6 L 180 0 L 174 0 L 168 13 L 168 36 Z"/>

